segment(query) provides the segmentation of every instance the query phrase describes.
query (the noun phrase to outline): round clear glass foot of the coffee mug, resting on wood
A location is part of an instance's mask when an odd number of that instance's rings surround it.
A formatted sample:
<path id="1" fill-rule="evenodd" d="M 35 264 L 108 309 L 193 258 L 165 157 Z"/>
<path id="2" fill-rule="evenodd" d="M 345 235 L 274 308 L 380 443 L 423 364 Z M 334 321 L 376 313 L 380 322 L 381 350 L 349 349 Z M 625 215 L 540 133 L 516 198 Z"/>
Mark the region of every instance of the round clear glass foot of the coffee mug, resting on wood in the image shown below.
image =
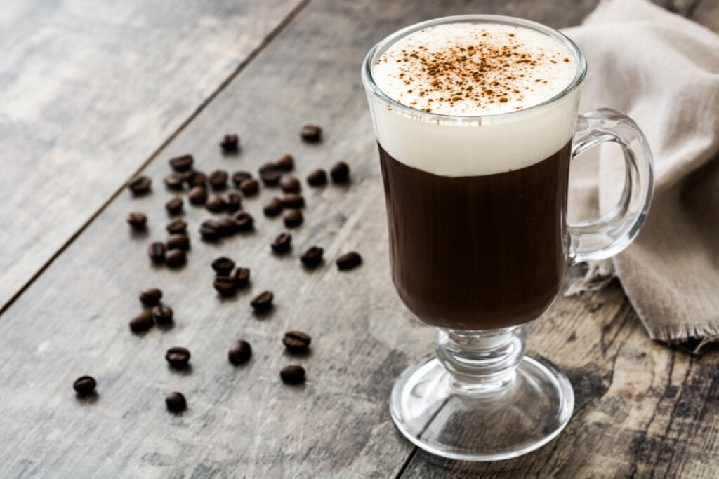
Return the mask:
<path id="1" fill-rule="evenodd" d="M 390 397 L 392 419 L 408 440 L 450 459 L 510 459 L 554 439 L 572 417 L 574 392 L 549 361 L 521 358 L 492 384 L 458 382 L 437 358 L 407 368 Z"/>

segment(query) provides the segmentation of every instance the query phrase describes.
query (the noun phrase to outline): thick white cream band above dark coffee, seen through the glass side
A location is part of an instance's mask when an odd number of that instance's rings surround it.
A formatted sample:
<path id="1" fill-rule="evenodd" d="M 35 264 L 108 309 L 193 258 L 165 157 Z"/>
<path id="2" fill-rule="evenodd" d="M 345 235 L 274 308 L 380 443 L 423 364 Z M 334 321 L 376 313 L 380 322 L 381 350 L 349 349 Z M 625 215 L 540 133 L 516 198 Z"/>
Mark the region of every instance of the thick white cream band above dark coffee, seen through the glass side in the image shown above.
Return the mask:
<path id="1" fill-rule="evenodd" d="M 467 24 L 449 24 L 447 27 Z M 487 25 L 470 25 L 487 27 Z M 431 27 L 431 29 L 436 27 Z M 541 35 L 546 41 L 554 42 L 566 55 L 571 55 L 564 45 L 551 37 L 529 29 L 531 34 Z M 425 29 L 423 31 L 428 31 Z M 443 35 L 446 37 L 448 30 Z M 414 37 L 417 32 L 408 35 Z M 400 42 L 402 40 L 400 39 Z M 395 44 L 397 45 L 397 44 Z M 564 55 L 564 54 L 563 54 Z M 576 68 L 576 59 L 572 58 L 572 68 Z M 563 62 L 566 65 L 566 62 Z M 555 64 L 552 64 L 555 65 Z M 377 78 L 375 63 L 372 77 L 382 88 L 383 81 Z M 546 90 L 549 97 L 556 95 L 571 83 L 572 77 L 551 82 L 553 90 Z M 385 82 L 386 83 L 386 82 Z M 549 83 L 548 83 L 549 84 Z M 385 91 L 385 90 L 383 90 Z M 386 93 L 386 92 L 385 92 Z M 546 105 L 524 103 L 522 108 L 513 109 L 510 115 L 493 116 L 491 109 L 479 113 L 481 119 L 462 121 L 458 118 L 442 118 L 431 113 L 413 111 L 406 113 L 389 106 L 379 98 L 369 95 L 370 110 L 375 124 L 377 140 L 393 158 L 411 167 L 422 169 L 436 175 L 458 177 L 492 175 L 514 169 L 528 167 L 556 153 L 572 138 L 574 122 L 577 118 L 577 106 L 580 88 L 574 89 L 563 98 Z M 537 97 L 539 98 L 539 97 Z M 403 102 L 400 102 L 403 103 Z M 508 103 L 508 102 L 507 102 Z M 434 109 L 432 113 L 434 113 Z M 448 113 L 452 113 L 451 111 Z M 447 114 L 447 113 L 445 113 Z M 452 113 L 464 115 L 463 111 Z M 477 114 L 477 112 L 473 112 Z"/>

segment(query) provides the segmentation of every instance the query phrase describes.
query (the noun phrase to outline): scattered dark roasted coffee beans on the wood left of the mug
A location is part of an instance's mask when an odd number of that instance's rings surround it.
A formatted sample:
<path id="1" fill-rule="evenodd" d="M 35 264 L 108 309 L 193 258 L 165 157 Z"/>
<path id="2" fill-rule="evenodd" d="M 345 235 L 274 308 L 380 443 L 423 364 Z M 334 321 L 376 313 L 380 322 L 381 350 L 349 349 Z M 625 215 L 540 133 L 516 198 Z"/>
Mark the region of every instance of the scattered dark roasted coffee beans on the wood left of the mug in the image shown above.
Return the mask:
<path id="1" fill-rule="evenodd" d="M 317 125 L 305 125 L 300 131 L 301 139 L 307 143 L 319 143 L 322 129 Z M 224 154 L 233 154 L 239 151 L 239 136 L 226 134 L 220 141 L 221 151 Z M 255 218 L 242 209 L 243 198 L 253 197 L 260 192 L 260 187 L 280 187 L 283 196 L 275 196 L 262 208 L 267 218 L 282 216 L 287 228 L 297 228 L 304 222 L 303 209 L 306 208 L 305 197 L 301 194 L 302 185 L 291 172 L 295 169 L 295 159 L 285 154 L 275 162 L 262 164 L 257 171 L 259 181 L 247 171 L 237 171 L 230 175 L 223 169 L 216 169 L 209 175 L 195 169 L 195 159 L 191 154 L 185 154 L 169 160 L 172 172 L 164 178 L 168 190 L 187 192 L 188 203 L 194 207 L 203 207 L 215 216 L 204 220 L 199 225 L 199 233 L 204 242 L 221 241 L 238 233 L 247 233 L 255 229 Z M 336 184 L 349 182 L 349 165 L 338 162 L 330 169 L 329 177 Z M 328 175 L 324 169 L 314 169 L 307 177 L 307 184 L 311 187 L 321 187 L 328 183 Z M 227 192 L 229 183 L 236 190 Z M 132 195 L 145 195 L 150 192 L 152 180 L 146 176 L 139 176 L 128 183 Z M 166 213 L 177 216 L 183 213 L 185 201 L 183 197 L 175 195 L 165 203 Z M 147 228 L 147 215 L 135 211 L 127 216 L 127 223 L 137 231 Z M 191 242 L 187 233 L 188 224 L 183 218 L 173 218 L 166 226 L 168 237 L 165 241 L 152 241 L 147 247 L 147 255 L 152 264 L 164 264 L 170 268 L 178 268 L 188 261 L 187 252 L 191 250 Z M 270 242 L 271 254 L 288 254 L 291 249 L 292 234 L 288 231 L 280 233 Z M 315 269 L 324 262 L 324 248 L 311 246 L 300 256 L 301 264 L 306 269 Z M 352 269 L 362 263 L 362 258 L 352 251 L 336 259 L 339 270 Z M 214 270 L 212 285 L 219 297 L 232 297 L 239 289 L 249 285 L 250 270 L 239 266 L 227 256 L 219 256 L 211 263 Z M 162 291 L 158 288 L 146 289 L 139 295 L 144 309 L 129 322 L 130 330 L 142 335 L 155 325 L 170 327 L 173 325 L 174 312 L 167 304 L 162 303 Z M 249 305 L 255 315 L 260 319 L 265 313 L 273 309 L 275 295 L 271 291 L 263 291 L 253 297 Z M 293 355 L 308 353 L 311 337 L 306 332 L 288 331 L 282 338 L 285 350 Z M 252 346 L 246 340 L 235 341 L 227 353 L 230 363 L 239 366 L 247 363 L 252 357 Z M 191 353 L 187 348 L 175 346 L 165 353 L 165 360 L 170 368 L 189 368 Z M 284 383 L 299 384 L 306 378 L 305 369 L 298 364 L 290 364 L 280 371 L 280 378 Z M 96 381 L 91 376 L 82 376 L 73 383 L 73 388 L 79 396 L 94 394 Z M 170 411 L 180 412 L 187 408 L 185 396 L 180 392 L 173 392 L 165 398 L 165 404 Z"/>

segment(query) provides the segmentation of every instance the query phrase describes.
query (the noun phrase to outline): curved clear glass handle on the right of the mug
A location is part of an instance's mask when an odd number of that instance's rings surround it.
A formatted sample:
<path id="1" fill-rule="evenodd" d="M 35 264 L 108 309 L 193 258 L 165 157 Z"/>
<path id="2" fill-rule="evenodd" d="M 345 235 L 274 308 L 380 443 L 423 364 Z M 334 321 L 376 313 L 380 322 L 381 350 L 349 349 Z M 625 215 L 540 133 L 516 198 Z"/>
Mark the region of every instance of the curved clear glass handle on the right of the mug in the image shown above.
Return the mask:
<path id="1" fill-rule="evenodd" d="M 605 141 L 618 144 L 624 153 L 624 188 L 618 203 L 607 213 L 567 225 L 569 260 L 573 264 L 608 259 L 623 251 L 636 238 L 649 213 L 654 163 L 644 134 L 631 118 L 610 108 L 580 115 L 572 159 Z"/>

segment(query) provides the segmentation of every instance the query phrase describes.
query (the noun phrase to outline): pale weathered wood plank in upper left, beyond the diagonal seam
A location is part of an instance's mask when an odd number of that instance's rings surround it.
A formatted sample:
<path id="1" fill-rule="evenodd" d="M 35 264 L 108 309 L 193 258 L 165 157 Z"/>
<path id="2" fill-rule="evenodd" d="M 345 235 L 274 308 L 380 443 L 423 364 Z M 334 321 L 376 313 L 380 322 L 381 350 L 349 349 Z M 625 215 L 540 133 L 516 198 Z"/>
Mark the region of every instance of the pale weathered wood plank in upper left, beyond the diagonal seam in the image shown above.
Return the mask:
<path id="1" fill-rule="evenodd" d="M 0 310 L 301 2 L 3 5 Z"/>

